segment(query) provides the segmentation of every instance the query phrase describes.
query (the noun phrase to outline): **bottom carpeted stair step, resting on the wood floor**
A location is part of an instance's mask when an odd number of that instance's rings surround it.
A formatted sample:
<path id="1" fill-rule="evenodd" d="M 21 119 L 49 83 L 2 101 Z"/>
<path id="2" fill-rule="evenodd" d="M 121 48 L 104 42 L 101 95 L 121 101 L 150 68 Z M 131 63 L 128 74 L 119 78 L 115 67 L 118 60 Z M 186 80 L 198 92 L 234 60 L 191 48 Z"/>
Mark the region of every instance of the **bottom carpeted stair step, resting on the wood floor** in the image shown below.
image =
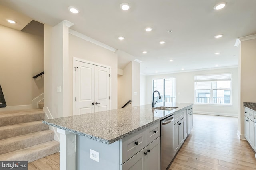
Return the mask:
<path id="1" fill-rule="evenodd" d="M 0 160 L 4 161 L 28 161 L 32 162 L 60 150 L 60 144 L 57 141 L 48 141 L 32 147 L 16 150 L 0 155 Z"/>

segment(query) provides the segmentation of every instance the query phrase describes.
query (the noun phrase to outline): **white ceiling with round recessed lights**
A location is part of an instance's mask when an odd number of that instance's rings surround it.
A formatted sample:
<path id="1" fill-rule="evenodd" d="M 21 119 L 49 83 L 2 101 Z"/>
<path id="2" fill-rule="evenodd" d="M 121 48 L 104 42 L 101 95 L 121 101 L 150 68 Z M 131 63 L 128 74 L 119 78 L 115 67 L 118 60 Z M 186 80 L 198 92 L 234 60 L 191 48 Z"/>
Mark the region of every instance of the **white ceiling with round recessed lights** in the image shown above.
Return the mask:
<path id="1" fill-rule="evenodd" d="M 213 9 L 221 0 L 1 0 L 0 5 L 52 26 L 68 20 L 75 24 L 71 29 L 142 61 L 141 73 L 149 75 L 238 66 L 234 44 L 256 34 L 256 0 L 224 1 L 221 10 Z M 121 10 L 122 2 L 130 10 Z M 69 6 L 80 12 L 72 14 Z M 223 37 L 214 38 L 218 34 Z M 131 59 L 118 60 L 118 68 Z"/>

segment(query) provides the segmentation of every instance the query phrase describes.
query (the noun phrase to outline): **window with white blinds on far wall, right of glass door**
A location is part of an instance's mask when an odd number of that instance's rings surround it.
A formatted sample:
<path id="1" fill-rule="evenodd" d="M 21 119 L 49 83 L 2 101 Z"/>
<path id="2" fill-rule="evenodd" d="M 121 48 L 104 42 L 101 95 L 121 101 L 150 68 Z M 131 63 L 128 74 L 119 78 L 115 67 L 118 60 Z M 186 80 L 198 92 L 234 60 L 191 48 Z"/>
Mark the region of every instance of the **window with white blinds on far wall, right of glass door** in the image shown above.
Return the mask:
<path id="1" fill-rule="evenodd" d="M 195 103 L 231 104 L 231 74 L 195 76 Z"/>

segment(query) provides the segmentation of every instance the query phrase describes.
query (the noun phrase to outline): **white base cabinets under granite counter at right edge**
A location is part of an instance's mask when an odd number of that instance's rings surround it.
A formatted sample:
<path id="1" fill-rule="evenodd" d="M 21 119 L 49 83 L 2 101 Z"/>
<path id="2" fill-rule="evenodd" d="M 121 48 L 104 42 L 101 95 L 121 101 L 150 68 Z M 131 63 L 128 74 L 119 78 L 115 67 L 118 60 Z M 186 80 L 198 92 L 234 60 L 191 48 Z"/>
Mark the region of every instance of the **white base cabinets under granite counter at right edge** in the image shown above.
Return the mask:
<path id="1" fill-rule="evenodd" d="M 244 107 L 244 137 L 256 151 L 256 127 L 254 119 L 255 111 Z"/>

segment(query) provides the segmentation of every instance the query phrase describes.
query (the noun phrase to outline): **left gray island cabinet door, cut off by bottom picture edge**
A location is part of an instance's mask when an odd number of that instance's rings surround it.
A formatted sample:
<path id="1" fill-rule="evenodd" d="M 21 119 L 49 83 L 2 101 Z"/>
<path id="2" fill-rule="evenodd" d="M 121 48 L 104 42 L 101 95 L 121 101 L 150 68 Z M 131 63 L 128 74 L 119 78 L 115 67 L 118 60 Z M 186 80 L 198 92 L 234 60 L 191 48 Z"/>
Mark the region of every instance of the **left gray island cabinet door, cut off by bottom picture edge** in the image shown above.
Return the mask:
<path id="1" fill-rule="evenodd" d="M 124 164 L 120 164 L 120 170 L 146 170 L 146 148 L 140 150 Z"/>

